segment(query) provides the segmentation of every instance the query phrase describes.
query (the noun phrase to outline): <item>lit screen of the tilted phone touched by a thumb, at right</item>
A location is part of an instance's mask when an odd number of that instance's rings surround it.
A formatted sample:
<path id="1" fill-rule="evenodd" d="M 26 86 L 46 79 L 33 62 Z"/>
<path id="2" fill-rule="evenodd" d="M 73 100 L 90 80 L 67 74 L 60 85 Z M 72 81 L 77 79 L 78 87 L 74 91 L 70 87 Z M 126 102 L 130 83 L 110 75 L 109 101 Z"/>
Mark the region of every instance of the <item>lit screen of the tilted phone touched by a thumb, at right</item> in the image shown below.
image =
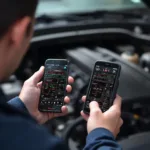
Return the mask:
<path id="1" fill-rule="evenodd" d="M 110 97 L 113 91 L 118 68 L 96 65 L 86 100 L 86 109 L 89 112 L 89 103 L 97 101 L 102 111 L 110 106 Z"/>

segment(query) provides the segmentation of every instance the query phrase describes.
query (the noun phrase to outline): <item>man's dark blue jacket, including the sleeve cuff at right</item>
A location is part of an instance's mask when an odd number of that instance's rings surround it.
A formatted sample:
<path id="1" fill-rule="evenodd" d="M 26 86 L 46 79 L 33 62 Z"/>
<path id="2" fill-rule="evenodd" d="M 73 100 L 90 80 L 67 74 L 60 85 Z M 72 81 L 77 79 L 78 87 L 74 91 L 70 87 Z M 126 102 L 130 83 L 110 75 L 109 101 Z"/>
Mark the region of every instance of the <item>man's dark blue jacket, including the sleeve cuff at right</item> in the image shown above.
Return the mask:
<path id="1" fill-rule="evenodd" d="M 1 150 L 68 150 L 65 143 L 26 113 L 27 109 L 17 97 L 0 103 Z M 121 150 L 113 135 L 106 129 L 95 129 L 87 137 L 84 150 Z"/>

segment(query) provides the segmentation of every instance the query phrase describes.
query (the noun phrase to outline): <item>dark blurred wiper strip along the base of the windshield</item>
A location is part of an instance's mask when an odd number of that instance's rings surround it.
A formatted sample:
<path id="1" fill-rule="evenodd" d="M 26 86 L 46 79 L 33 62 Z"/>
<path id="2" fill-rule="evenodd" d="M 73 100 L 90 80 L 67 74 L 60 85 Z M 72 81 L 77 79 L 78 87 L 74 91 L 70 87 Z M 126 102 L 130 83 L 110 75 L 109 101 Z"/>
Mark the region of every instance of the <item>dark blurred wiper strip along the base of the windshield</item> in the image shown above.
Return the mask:
<path id="1" fill-rule="evenodd" d="M 86 13 L 73 13 L 65 15 L 48 15 L 44 14 L 36 18 L 37 23 L 53 23 L 56 21 L 66 21 L 66 22 L 79 22 L 79 21 L 88 21 L 93 19 L 142 19 L 143 15 L 137 12 L 125 12 L 125 11 L 94 11 Z"/>

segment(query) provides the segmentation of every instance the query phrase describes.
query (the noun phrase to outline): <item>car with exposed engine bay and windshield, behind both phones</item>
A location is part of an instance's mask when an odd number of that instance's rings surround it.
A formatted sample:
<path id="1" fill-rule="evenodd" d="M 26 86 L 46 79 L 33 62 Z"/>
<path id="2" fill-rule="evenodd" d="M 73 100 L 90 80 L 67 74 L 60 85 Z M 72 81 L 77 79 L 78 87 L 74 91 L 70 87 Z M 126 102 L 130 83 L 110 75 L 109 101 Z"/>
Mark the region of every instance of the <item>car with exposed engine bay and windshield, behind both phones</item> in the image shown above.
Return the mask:
<path id="1" fill-rule="evenodd" d="M 79 4 L 71 1 L 39 2 L 28 53 L 19 69 L 1 84 L 1 89 L 9 100 L 19 94 L 24 81 L 46 59 L 68 59 L 69 75 L 75 79 L 69 113 L 45 126 L 62 137 L 70 150 L 82 150 L 87 131 L 80 116 L 81 97 L 86 94 L 94 63 L 97 60 L 118 63 L 122 67 L 118 94 L 123 98 L 124 125 L 117 141 L 124 150 L 150 149 L 150 2 L 116 0 L 112 5 L 108 0 L 91 0 L 92 4 L 88 0 L 89 4 L 83 1 L 82 5 L 87 6 L 77 11 Z M 70 5 L 70 10 L 61 7 L 63 4 L 68 8 Z M 52 10 L 51 5 L 58 7 Z"/>

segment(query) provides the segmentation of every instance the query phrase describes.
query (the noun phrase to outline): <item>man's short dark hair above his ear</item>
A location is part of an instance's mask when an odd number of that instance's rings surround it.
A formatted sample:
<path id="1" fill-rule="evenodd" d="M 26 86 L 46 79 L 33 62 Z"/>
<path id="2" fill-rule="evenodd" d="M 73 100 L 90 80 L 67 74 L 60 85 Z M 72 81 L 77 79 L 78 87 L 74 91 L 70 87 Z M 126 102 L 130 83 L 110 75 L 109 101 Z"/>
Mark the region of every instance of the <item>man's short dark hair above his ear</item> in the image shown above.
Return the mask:
<path id="1" fill-rule="evenodd" d="M 0 0 L 0 38 L 7 33 L 15 21 L 33 17 L 38 0 Z"/>

